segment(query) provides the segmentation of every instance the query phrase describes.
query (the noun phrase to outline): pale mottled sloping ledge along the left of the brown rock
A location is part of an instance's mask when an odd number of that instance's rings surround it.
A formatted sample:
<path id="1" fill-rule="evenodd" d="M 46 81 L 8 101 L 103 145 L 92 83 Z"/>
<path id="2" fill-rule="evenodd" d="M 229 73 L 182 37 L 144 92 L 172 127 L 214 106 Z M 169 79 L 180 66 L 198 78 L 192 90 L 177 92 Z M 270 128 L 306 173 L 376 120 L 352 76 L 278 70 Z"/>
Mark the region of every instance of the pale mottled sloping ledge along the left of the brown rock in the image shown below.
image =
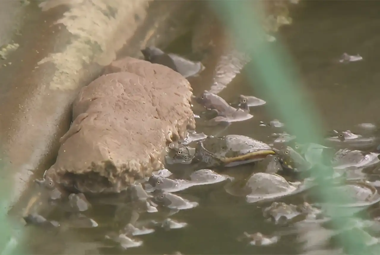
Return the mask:
<path id="1" fill-rule="evenodd" d="M 2 177 L 14 184 L 9 190 L 14 210 L 29 200 L 31 178 L 54 163 L 78 90 L 118 53 L 136 56 L 141 47 L 168 44 L 195 10 L 188 1 L 36 2 L 28 6 L 22 35 L 15 39 L 19 49 L 0 68 Z M 173 22 L 171 13 L 181 12 Z"/>

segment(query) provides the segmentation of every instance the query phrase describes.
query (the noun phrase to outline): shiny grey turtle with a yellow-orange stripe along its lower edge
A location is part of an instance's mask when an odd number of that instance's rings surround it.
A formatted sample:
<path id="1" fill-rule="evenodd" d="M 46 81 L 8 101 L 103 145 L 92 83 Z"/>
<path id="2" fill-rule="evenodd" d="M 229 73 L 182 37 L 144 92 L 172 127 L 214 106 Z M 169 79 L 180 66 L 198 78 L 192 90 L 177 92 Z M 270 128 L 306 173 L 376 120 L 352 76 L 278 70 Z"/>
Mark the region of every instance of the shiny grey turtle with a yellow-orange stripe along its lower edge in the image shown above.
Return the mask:
<path id="1" fill-rule="evenodd" d="M 271 146 L 244 135 L 209 136 L 198 143 L 196 157 L 210 167 L 234 166 L 260 161 L 275 154 Z"/>

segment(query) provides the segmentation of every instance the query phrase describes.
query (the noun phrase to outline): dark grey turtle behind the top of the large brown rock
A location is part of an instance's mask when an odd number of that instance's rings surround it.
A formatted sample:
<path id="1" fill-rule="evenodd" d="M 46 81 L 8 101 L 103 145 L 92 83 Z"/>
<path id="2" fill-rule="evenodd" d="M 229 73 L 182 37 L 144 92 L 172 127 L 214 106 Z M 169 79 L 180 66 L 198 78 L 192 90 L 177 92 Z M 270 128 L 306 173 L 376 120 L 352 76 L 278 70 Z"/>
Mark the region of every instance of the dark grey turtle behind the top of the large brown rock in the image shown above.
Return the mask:
<path id="1" fill-rule="evenodd" d="M 145 60 L 150 63 L 167 66 L 179 72 L 185 78 L 196 76 L 204 70 L 201 62 L 191 61 L 173 53 L 166 54 L 163 50 L 156 47 L 147 47 L 141 50 L 141 53 L 144 55 Z"/>

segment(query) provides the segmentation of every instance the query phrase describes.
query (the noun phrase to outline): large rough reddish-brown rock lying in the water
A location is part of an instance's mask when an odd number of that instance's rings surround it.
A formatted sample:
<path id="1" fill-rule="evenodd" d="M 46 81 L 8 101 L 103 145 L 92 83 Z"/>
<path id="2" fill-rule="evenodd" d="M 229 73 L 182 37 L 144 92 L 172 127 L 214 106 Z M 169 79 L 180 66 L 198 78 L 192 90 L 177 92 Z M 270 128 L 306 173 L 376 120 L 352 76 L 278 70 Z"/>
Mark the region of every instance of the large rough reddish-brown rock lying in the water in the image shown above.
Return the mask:
<path id="1" fill-rule="evenodd" d="M 163 167 L 165 146 L 195 128 L 192 88 L 172 69 L 144 60 L 114 61 L 82 88 L 73 124 L 46 172 L 81 192 L 120 192 Z"/>

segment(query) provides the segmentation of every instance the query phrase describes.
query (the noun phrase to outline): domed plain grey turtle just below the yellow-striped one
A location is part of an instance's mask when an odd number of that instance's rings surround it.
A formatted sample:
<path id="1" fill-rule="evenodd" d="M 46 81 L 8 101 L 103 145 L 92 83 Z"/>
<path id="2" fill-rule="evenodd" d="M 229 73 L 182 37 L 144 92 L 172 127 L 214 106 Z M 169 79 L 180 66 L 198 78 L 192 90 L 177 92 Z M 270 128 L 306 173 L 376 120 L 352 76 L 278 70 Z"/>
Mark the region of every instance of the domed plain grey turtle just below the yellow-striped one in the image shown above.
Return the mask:
<path id="1" fill-rule="evenodd" d="M 225 186 L 234 196 L 245 196 L 248 203 L 273 200 L 304 190 L 301 183 L 290 183 L 275 173 L 253 173 L 248 179 L 237 180 Z"/>

